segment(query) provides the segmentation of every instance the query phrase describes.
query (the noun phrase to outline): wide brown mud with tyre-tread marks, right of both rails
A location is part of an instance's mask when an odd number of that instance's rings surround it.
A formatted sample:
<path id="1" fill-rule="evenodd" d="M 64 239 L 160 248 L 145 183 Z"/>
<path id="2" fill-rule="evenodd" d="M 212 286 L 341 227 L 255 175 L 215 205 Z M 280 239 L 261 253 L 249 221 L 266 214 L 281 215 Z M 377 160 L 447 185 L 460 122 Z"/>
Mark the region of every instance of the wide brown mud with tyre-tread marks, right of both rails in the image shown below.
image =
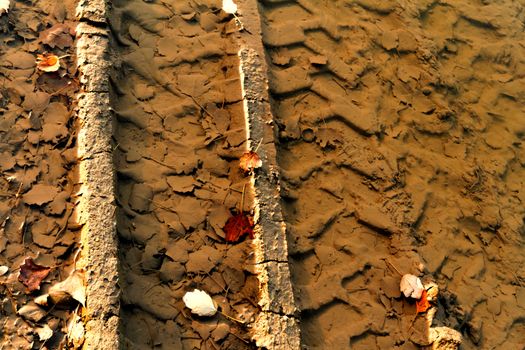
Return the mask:
<path id="1" fill-rule="evenodd" d="M 428 345 L 384 259 L 464 349 L 523 347 L 523 10 L 260 2 L 305 348 Z"/>

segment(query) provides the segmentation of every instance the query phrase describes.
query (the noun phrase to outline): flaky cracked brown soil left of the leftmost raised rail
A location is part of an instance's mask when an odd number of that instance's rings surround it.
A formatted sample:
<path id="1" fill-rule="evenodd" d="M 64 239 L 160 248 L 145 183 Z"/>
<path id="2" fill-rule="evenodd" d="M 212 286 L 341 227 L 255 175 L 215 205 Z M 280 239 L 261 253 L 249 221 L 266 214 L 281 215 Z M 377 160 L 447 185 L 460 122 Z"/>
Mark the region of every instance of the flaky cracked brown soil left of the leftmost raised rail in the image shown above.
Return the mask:
<path id="1" fill-rule="evenodd" d="M 47 31 L 60 24 L 74 29 L 74 6 L 11 1 L 0 17 L 0 265 L 9 268 L 0 277 L 2 349 L 57 348 L 71 315 L 36 307 L 33 299 L 68 276 L 79 249 L 74 32 L 52 37 Z M 36 69 L 36 55 L 45 51 L 68 55 L 58 72 Z M 26 257 L 51 268 L 32 293 L 18 281 Z M 35 307 L 32 316 L 17 315 L 23 306 Z M 45 344 L 35 333 L 43 325 L 54 331 Z"/>

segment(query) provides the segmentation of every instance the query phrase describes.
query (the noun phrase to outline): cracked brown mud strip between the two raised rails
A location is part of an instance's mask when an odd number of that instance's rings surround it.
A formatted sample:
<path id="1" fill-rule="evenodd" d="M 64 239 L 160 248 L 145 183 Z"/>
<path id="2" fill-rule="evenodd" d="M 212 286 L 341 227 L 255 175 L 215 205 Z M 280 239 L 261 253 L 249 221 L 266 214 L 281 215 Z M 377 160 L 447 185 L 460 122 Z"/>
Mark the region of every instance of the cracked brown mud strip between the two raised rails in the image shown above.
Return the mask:
<path id="1" fill-rule="evenodd" d="M 229 38 L 237 29 L 219 9 L 220 1 L 113 2 L 123 348 L 255 347 L 253 249 L 249 240 L 226 244 L 222 231 L 248 181 L 236 161 L 246 147 Z M 246 325 L 192 315 L 182 296 L 193 288 Z"/>

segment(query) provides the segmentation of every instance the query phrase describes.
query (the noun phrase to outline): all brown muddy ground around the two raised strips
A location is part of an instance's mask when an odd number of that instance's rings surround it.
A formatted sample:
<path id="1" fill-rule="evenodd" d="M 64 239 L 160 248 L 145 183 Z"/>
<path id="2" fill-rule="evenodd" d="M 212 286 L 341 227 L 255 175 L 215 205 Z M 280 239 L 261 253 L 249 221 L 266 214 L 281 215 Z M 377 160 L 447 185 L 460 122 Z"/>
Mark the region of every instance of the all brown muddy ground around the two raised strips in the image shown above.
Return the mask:
<path id="1" fill-rule="evenodd" d="M 258 4 L 302 347 L 424 348 L 447 326 L 463 349 L 524 348 L 524 5 Z M 59 74 L 35 69 L 37 53 L 73 55 L 72 34 L 57 47 L 41 33 L 74 6 L 13 1 L 0 17 L 1 348 L 59 348 L 71 318 L 15 309 L 63 280 L 78 250 L 74 56 Z M 125 349 L 256 348 L 253 244 L 226 243 L 223 228 L 253 214 L 238 50 L 257 33 L 220 7 L 111 2 Z M 28 256 L 51 267 L 32 293 L 17 279 Z M 404 273 L 439 286 L 430 313 L 401 297 Z M 191 314 L 194 288 L 227 316 Z"/>

